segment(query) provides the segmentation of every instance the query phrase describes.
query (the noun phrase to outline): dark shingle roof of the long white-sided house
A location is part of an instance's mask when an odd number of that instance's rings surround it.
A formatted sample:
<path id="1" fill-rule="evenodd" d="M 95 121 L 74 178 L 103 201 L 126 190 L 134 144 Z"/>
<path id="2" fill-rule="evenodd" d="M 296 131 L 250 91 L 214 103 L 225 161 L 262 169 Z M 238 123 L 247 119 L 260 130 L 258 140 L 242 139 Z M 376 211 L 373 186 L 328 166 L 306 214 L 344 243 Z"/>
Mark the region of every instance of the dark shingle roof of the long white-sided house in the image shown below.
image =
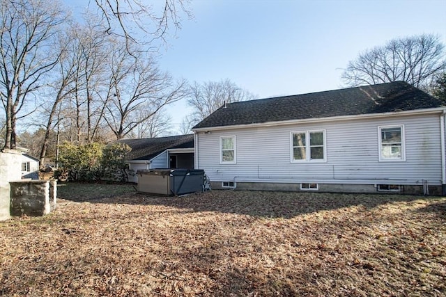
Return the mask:
<path id="1" fill-rule="evenodd" d="M 440 107 L 440 100 L 403 81 L 341 90 L 235 102 L 193 129 L 285 120 L 329 118 Z"/>

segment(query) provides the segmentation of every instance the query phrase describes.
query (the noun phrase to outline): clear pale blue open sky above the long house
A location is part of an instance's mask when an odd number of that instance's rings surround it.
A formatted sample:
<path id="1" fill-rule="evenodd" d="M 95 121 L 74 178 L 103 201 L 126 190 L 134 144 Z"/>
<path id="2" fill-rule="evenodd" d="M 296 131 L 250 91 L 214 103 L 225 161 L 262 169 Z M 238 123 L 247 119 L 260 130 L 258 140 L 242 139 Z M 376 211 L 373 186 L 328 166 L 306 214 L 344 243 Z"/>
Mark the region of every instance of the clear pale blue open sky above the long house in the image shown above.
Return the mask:
<path id="1" fill-rule="evenodd" d="M 434 33 L 446 45 L 446 0 L 192 0 L 189 8 L 194 18 L 183 15 L 160 68 L 190 83 L 230 79 L 259 99 L 342 88 L 348 61 L 393 38 Z M 191 111 L 186 100 L 167 108 L 174 130 Z"/>

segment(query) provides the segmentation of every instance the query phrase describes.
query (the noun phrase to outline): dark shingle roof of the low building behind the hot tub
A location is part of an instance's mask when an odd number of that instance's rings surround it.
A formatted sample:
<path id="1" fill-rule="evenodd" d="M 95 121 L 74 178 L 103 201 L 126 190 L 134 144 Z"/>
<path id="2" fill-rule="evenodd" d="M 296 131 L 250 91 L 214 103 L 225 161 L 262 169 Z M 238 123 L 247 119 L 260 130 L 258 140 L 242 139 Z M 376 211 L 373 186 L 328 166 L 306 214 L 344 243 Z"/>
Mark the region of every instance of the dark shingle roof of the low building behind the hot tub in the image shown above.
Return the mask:
<path id="1" fill-rule="evenodd" d="M 167 149 L 194 147 L 194 135 L 178 135 L 158 138 L 121 139 L 118 143 L 125 143 L 132 147 L 128 153 L 128 160 L 150 160 Z"/>

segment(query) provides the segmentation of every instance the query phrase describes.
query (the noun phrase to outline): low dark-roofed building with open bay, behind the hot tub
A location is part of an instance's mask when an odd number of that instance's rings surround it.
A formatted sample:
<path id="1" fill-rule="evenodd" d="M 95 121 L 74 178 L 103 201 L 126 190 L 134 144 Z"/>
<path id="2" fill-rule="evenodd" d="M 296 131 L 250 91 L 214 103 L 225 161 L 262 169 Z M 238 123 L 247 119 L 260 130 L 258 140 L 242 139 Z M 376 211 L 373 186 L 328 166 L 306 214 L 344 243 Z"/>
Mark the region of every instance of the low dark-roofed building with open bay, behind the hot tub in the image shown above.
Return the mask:
<path id="1" fill-rule="evenodd" d="M 129 182 L 137 182 L 137 170 L 157 168 L 194 168 L 194 135 L 123 139 L 132 148 L 126 156 Z"/>

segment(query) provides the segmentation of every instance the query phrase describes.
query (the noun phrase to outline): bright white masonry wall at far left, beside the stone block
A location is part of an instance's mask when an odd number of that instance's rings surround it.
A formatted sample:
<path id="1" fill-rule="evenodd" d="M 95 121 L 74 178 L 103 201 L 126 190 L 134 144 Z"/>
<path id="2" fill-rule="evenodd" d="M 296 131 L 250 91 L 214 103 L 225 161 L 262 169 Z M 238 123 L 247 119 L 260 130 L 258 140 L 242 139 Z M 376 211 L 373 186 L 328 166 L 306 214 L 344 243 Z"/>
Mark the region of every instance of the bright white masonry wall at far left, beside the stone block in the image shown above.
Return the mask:
<path id="1" fill-rule="evenodd" d="M 0 220 L 10 218 L 10 184 L 22 179 L 22 152 L 0 152 Z"/>

